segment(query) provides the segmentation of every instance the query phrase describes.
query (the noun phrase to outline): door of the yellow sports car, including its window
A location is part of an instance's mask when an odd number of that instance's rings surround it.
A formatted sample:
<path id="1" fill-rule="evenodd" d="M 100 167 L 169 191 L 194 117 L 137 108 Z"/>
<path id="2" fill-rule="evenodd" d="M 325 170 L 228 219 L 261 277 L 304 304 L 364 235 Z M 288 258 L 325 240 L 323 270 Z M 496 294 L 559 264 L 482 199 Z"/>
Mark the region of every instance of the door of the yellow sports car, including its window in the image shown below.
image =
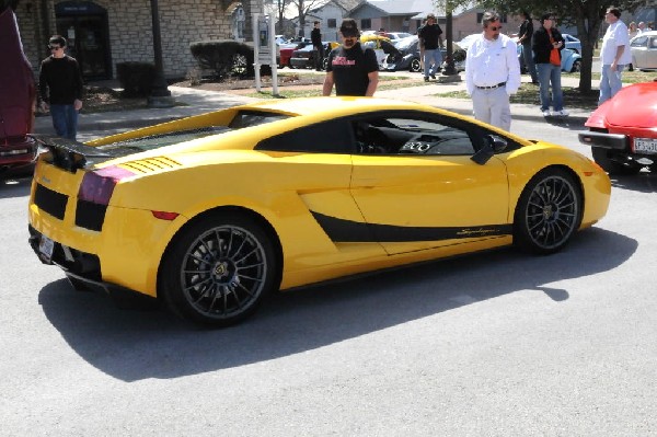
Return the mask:
<path id="1" fill-rule="evenodd" d="M 487 130 L 419 112 L 361 118 L 354 130 L 350 192 L 388 254 L 509 234 L 503 161 L 471 160 Z"/>

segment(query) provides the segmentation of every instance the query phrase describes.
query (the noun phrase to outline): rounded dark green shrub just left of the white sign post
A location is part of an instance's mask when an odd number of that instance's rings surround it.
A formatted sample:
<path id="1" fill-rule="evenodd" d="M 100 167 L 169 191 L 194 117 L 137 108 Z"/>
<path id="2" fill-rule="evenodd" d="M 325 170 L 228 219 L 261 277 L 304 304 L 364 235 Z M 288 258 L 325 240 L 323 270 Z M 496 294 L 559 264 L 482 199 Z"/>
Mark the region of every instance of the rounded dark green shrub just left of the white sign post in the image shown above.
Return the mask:
<path id="1" fill-rule="evenodd" d="M 189 44 L 192 56 L 215 80 L 229 76 L 252 77 L 253 47 L 233 39 L 200 41 Z"/>

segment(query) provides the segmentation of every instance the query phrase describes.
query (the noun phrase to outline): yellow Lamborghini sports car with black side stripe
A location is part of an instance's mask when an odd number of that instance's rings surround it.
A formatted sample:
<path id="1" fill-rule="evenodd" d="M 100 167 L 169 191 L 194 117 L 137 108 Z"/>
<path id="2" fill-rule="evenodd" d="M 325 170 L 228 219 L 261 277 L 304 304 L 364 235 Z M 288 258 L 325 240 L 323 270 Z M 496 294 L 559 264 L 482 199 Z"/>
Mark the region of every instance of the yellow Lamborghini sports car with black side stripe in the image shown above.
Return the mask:
<path id="1" fill-rule="evenodd" d="M 515 243 L 607 212 L 584 156 L 372 97 L 266 101 L 85 145 L 39 138 L 30 242 L 76 288 L 228 325 L 274 290 Z"/>

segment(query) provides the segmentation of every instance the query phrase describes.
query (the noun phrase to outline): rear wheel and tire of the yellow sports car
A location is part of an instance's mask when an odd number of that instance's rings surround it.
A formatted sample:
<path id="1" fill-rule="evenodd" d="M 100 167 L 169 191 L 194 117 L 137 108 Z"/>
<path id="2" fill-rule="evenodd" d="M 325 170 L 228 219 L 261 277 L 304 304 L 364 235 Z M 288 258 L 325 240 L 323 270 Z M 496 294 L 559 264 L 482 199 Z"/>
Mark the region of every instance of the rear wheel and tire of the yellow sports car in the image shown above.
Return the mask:
<path id="1" fill-rule="evenodd" d="M 278 262 L 267 232 L 249 216 L 205 216 L 176 237 L 160 268 L 166 307 L 206 325 L 228 326 L 253 314 L 277 287 Z"/>

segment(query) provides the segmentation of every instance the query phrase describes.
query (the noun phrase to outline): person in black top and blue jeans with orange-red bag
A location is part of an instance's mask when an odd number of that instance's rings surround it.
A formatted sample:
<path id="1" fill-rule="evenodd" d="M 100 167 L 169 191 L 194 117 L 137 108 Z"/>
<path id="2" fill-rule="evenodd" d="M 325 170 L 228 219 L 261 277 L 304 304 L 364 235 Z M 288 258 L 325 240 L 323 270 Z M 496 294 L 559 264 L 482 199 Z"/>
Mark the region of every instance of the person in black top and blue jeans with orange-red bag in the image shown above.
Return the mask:
<path id="1" fill-rule="evenodd" d="M 550 115 L 567 116 L 564 110 L 564 95 L 561 88 L 561 50 L 565 41 L 554 25 L 554 16 L 546 13 L 541 16 L 541 27 L 533 35 L 533 51 L 539 73 L 541 113 L 544 117 Z M 552 99 L 550 85 L 552 84 Z M 553 111 L 550 112 L 550 106 Z"/>

